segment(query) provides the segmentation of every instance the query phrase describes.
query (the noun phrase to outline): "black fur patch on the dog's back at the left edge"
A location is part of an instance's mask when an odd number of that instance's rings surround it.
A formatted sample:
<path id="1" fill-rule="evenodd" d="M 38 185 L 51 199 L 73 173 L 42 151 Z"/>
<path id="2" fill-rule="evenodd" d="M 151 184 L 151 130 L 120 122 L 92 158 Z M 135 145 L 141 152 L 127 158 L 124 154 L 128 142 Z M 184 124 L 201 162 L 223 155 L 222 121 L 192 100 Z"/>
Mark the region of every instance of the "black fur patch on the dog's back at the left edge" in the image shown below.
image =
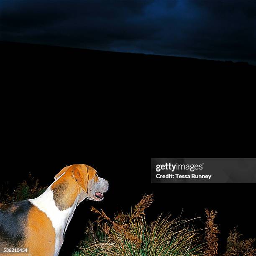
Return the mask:
<path id="1" fill-rule="evenodd" d="M 33 205 L 28 200 L 0 205 L 0 248 L 17 248 L 23 245 L 31 207 Z"/>

